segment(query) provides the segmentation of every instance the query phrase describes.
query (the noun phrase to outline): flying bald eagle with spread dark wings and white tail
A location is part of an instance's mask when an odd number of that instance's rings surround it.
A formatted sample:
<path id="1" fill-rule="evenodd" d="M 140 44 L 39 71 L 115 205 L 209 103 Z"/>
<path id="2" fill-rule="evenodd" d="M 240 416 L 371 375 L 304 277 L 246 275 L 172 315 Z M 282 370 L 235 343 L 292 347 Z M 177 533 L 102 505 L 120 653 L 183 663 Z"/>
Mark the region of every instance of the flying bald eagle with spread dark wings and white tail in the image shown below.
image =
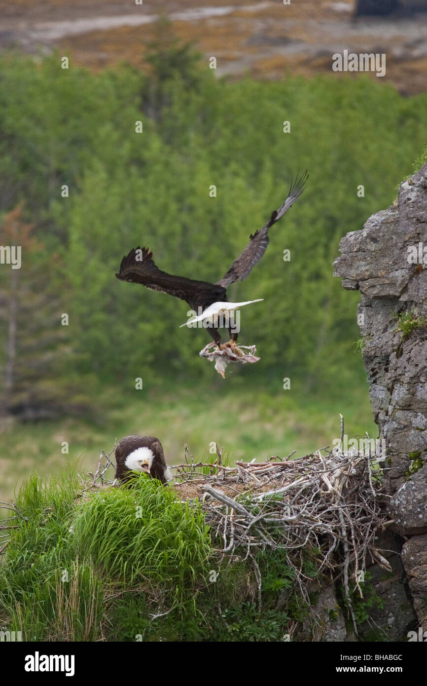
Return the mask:
<path id="1" fill-rule="evenodd" d="M 218 316 L 228 315 L 230 344 L 235 344 L 238 334 L 236 333 L 233 312 L 239 309 L 239 307 L 243 307 L 243 305 L 258 303 L 259 300 L 229 303 L 227 288 L 234 281 L 246 279 L 252 268 L 263 257 L 269 243 L 269 228 L 276 224 L 293 203 L 300 198 L 307 178 L 308 174 L 304 171 L 304 174 L 299 178 L 297 177 L 295 181 L 291 181 L 288 197 L 282 206 L 278 210 L 273 211 L 263 228 L 257 230 L 254 235 L 249 237 L 249 243 L 245 250 L 234 260 L 230 269 L 225 272 L 222 279 L 217 281 L 217 283 L 195 281 L 194 279 L 186 279 L 184 276 L 172 276 L 167 274 L 167 272 L 162 272 L 153 261 L 153 253 L 148 248 L 141 248 L 139 246 L 138 248 L 133 248 L 129 255 L 123 257 L 120 271 L 116 274 L 117 279 L 132 283 L 142 283 L 151 290 L 167 293 L 175 296 L 175 298 L 185 300 L 192 310 L 201 313 L 199 316 L 193 317 L 186 322 L 186 324 L 207 320 L 206 324 L 208 325 L 206 329 L 218 348 L 221 348 L 221 335 L 219 335 L 218 327 L 215 324 L 217 324 Z M 182 324 L 182 326 L 186 326 L 186 324 Z"/>

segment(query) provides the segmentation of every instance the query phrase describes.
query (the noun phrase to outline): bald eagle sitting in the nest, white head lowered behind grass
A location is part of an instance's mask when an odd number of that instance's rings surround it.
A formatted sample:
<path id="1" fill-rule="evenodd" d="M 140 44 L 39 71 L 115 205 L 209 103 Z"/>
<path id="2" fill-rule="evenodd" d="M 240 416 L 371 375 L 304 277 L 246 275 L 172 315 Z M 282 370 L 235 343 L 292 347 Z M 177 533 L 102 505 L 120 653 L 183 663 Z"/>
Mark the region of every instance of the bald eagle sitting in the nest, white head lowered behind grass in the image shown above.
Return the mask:
<path id="1" fill-rule="evenodd" d="M 154 436 L 125 436 L 119 441 L 114 454 L 116 479 L 122 482 L 130 478 L 132 471 L 145 472 L 162 484 L 172 480 L 164 461 L 162 444 Z"/>

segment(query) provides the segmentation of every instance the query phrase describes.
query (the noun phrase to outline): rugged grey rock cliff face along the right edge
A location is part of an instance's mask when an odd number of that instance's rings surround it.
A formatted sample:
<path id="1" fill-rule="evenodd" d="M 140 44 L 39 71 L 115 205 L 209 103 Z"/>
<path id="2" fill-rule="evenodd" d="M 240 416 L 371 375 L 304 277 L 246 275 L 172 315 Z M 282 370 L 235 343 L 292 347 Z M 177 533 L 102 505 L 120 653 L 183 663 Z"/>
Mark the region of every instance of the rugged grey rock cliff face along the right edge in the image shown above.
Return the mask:
<path id="1" fill-rule="evenodd" d="M 398 200 L 348 233 L 334 262 L 360 289 L 372 412 L 385 440 L 388 512 L 419 622 L 427 628 L 427 165 Z"/>

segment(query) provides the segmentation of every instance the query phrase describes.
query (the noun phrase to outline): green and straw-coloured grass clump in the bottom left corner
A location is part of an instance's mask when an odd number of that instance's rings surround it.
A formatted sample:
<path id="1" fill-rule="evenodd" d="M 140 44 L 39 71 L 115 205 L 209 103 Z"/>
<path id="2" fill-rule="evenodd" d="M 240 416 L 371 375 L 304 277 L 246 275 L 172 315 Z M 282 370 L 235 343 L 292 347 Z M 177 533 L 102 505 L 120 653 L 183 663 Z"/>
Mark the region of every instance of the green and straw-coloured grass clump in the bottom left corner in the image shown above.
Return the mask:
<path id="1" fill-rule="evenodd" d="M 99 631 L 103 584 L 90 559 L 76 556 L 69 531 L 77 474 L 32 476 L 16 496 L 22 518 L 0 565 L 0 606 L 25 641 L 90 641 Z"/>

